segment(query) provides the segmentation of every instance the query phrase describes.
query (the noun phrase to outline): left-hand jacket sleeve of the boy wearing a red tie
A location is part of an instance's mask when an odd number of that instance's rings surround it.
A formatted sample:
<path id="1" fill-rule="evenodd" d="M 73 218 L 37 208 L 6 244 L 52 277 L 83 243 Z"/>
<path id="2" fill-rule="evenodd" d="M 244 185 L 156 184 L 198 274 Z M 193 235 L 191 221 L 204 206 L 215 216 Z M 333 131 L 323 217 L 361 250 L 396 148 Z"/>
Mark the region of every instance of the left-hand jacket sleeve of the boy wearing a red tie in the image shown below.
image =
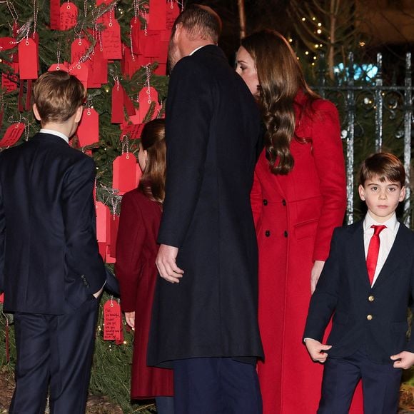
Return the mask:
<path id="1" fill-rule="evenodd" d="M 340 246 L 337 232 L 338 229 L 333 233 L 329 258 L 323 266 L 315 292 L 310 298 L 303 338 L 313 338 L 320 342 L 323 340 L 326 326 L 338 302 Z"/>

